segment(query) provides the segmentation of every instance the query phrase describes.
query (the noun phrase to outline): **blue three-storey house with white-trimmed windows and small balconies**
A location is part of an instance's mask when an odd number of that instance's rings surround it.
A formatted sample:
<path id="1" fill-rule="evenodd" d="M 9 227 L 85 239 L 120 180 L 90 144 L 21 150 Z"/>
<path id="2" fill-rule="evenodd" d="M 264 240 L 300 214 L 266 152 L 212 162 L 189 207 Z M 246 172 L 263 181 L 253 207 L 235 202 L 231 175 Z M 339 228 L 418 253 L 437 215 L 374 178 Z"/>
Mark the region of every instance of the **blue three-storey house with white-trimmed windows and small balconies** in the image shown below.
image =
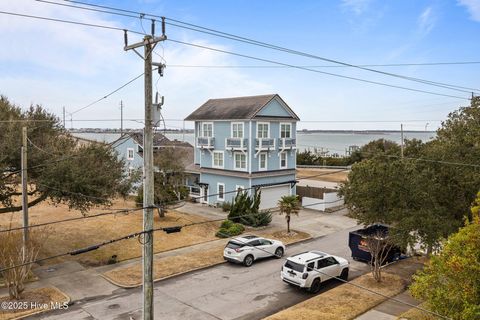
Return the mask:
<path id="1" fill-rule="evenodd" d="M 195 121 L 201 202 L 232 201 L 238 189 L 258 189 L 266 209 L 295 194 L 299 118 L 279 95 L 210 99 L 185 120 Z"/>

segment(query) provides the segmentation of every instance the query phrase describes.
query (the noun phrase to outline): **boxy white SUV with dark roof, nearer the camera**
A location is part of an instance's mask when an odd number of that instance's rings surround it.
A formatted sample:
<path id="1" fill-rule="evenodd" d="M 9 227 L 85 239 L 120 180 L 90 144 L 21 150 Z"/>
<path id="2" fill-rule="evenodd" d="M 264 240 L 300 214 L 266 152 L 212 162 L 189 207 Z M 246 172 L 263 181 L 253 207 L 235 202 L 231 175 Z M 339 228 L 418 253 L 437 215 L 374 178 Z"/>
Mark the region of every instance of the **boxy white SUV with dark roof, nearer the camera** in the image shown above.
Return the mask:
<path id="1" fill-rule="evenodd" d="M 346 259 L 325 252 L 308 251 L 287 258 L 280 278 L 290 285 L 317 293 L 322 282 L 333 277 L 348 279 Z"/>

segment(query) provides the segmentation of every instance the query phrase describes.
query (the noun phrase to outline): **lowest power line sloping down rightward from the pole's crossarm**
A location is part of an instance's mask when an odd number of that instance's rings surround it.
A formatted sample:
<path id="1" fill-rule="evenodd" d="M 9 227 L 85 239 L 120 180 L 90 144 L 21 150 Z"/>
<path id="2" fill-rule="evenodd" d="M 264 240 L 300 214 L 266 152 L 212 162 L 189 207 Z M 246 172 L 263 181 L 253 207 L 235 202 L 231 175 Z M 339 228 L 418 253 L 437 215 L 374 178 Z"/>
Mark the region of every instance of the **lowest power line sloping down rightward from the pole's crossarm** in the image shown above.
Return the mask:
<path id="1" fill-rule="evenodd" d="M 415 89 L 415 88 L 410 88 L 410 87 L 397 86 L 397 85 L 394 85 L 394 84 L 387 84 L 387 83 L 378 82 L 378 81 L 372 81 L 372 80 L 367 80 L 367 79 L 362 79 L 362 78 L 344 76 L 344 75 L 340 75 L 340 74 L 336 74 L 336 73 L 331 73 L 331 72 L 325 72 L 325 71 L 320 71 L 320 70 L 315 70 L 315 69 L 310 69 L 310 68 L 304 68 L 304 67 L 295 66 L 295 65 L 288 64 L 288 63 L 283 63 L 283 62 L 275 61 L 275 60 L 270 60 L 270 59 L 265 59 L 265 58 L 258 58 L 258 57 L 254 57 L 254 56 L 250 56 L 250 55 L 246 55 L 246 54 L 241 54 L 241 53 L 236 53 L 236 52 L 232 52 L 232 51 L 227 51 L 227 50 L 222 50 L 222 49 L 216 49 L 216 48 L 212 48 L 212 47 L 207 47 L 207 46 L 203 46 L 203 45 L 199 45 L 199 44 L 194 44 L 194 43 L 188 43 L 188 42 L 184 42 L 184 41 L 174 40 L 174 39 L 171 39 L 171 38 L 167 39 L 167 41 L 171 41 L 171 42 L 174 42 L 174 43 L 179 43 L 179 44 L 183 44 L 183 45 L 187 45 L 187 46 L 192 46 L 192 47 L 196 47 L 196 48 L 201 48 L 201 49 L 216 51 L 216 52 L 220 52 L 220 53 L 230 54 L 230 55 L 234 55 L 234 56 L 238 56 L 238 57 L 242 57 L 242 58 L 247 58 L 247 59 L 252 59 L 252 60 L 257 60 L 257 61 L 263 61 L 263 62 L 268 62 L 268 63 L 273 63 L 273 64 L 277 64 L 277 65 L 283 65 L 283 66 L 287 66 L 287 67 L 291 67 L 291 68 L 295 68 L 295 69 L 299 69 L 299 70 L 305 70 L 305 71 L 310 71 L 310 72 L 315 72 L 315 73 L 320 73 L 320 74 L 326 74 L 326 75 L 330 75 L 330 76 L 338 77 L 338 78 L 344 78 L 344 79 L 349 79 L 349 80 L 356 80 L 356 81 L 360 81 L 360 82 L 366 82 L 366 83 L 376 84 L 376 85 L 385 86 L 385 87 L 391 87 L 391 88 L 396 88 L 396 89 L 403 89 L 403 90 L 408 90 L 408 91 L 413 91 L 413 92 L 427 93 L 427 94 L 432 94 L 432 95 L 437 95 L 437 96 L 442 96 L 442 97 L 449 97 L 449 98 L 457 98 L 457 99 L 463 99 L 463 100 L 470 100 L 469 98 L 460 97 L 460 96 L 443 94 L 443 93 L 433 92 L 433 91 L 426 91 L 426 90 Z"/>

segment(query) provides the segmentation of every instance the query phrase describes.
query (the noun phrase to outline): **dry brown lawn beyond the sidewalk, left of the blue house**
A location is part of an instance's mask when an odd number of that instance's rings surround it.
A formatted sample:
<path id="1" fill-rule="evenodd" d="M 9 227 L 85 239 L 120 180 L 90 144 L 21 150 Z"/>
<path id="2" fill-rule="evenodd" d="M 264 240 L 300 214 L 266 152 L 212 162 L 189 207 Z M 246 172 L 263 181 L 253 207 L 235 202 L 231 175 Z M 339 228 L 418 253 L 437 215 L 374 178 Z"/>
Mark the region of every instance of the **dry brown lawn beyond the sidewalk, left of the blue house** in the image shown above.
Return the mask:
<path id="1" fill-rule="evenodd" d="M 94 209 L 91 214 L 108 212 L 116 208 L 134 208 L 134 202 L 131 200 L 116 200 L 111 208 L 105 210 Z M 31 224 L 81 216 L 79 211 L 69 210 L 65 205 L 53 206 L 48 203 L 41 203 L 30 208 L 29 213 Z M 14 213 L 13 215 L 14 226 L 20 226 L 21 212 Z M 6 228 L 8 226 L 10 216 L 10 214 L 0 215 L 0 228 Z M 109 215 L 51 225 L 51 234 L 40 252 L 39 258 L 83 248 L 105 240 L 141 231 L 142 221 L 142 211 L 140 210 L 131 212 L 128 215 Z M 199 221 L 205 220 L 199 216 L 172 211 L 168 212 L 162 220 L 160 220 L 158 214 L 155 213 L 154 226 L 168 227 Z M 154 251 L 162 252 L 215 239 L 217 229 L 218 223 L 206 223 L 186 227 L 180 233 L 172 233 L 169 235 L 164 232 L 155 232 Z M 107 245 L 82 255 L 52 259 L 46 261 L 46 263 L 53 264 L 74 259 L 86 266 L 98 266 L 106 264 L 112 255 L 117 255 L 118 261 L 139 257 L 141 256 L 141 250 L 141 245 L 137 239 L 129 239 Z"/>

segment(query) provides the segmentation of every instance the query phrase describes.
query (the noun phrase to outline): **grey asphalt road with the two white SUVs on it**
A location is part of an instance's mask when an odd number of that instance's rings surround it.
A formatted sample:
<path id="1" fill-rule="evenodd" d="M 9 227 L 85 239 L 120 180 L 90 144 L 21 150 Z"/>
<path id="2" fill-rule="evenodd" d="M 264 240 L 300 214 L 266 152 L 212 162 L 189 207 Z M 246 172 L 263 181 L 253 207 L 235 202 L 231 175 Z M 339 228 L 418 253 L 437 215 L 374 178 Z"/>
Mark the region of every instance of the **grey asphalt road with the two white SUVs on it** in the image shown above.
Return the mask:
<path id="1" fill-rule="evenodd" d="M 356 228 L 352 228 L 356 229 Z M 308 250 L 321 250 L 350 260 L 352 279 L 368 272 L 368 265 L 352 261 L 348 248 L 348 231 L 287 248 L 286 256 Z M 312 297 L 280 280 L 284 259 L 266 259 L 250 268 L 222 264 L 185 274 L 155 284 L 156 319 L 262 319 L 284 308 Z M 339 283 L 324 284 L 324 292 Z M 30 319 L 141 319 L 141 288 L 120 291 L 118 294 L 81 301 L 68 310 L 54 311 Z"/>

